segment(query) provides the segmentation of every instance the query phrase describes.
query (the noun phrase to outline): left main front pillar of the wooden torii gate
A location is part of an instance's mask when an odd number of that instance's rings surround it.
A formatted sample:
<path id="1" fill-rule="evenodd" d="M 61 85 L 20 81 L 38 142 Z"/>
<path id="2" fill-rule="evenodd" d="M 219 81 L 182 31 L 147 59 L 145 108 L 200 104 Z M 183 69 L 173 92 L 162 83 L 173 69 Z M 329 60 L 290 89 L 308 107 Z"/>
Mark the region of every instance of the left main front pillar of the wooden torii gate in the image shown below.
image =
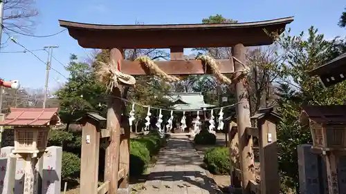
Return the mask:
<path id="1" fill-rule="evenodd" d="M 115 61 L 122 60 L 122 50 L 118 48 L 111 49 L 111 59 Z M 109 193 L 118 193 L 118 171 L 119 171 L 119 153 L 120 153 L 120 115 L 121 115 L 121 86 L 113 88 L 112 95 L 109 98 L 107 110 L 107 128 L 111 129 L 111 142 L 106 148 L 106 158 L 104 164 L 104 180 L 109 181 Z"/>

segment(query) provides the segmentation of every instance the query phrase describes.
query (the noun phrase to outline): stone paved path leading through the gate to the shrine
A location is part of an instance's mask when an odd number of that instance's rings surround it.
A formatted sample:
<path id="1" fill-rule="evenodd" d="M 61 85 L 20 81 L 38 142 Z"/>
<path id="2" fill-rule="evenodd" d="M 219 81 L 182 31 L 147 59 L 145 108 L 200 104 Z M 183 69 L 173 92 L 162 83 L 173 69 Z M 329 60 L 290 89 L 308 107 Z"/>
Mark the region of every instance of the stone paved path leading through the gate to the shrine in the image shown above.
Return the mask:
<path id="1" fill-rule="evenodd" d="M 172 136 L 161 150 L 158 161 L 145 182 L 142 194 L 217 194 L 214 180 L 199 165 L 203 158 L 188 137 Z"/>

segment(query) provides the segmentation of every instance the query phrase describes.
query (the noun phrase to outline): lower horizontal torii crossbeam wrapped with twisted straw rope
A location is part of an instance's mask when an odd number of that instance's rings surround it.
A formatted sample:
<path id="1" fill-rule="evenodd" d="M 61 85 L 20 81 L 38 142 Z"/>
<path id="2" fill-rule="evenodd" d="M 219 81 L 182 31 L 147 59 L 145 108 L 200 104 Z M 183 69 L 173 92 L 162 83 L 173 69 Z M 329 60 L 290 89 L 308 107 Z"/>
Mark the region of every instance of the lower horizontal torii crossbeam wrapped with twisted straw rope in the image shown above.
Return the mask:
<path id="1" fill-rule="evenodd" d="M 203 75 L 205 74 L 204 65 L 199 60 L 182 60 L 182 61 L 155 61 L 158 68 L 166 72 L 168 75 Z M 223 59 L 217 60 L 219 70 L 221 73 L 233 73 L 233 60 Z M 123 60 L 121 64 L 121 71 L 128 75 L 149 75 L 149 70 L 139 61 L 126 61 Z M 210 74 L 210 70 L 206 70 Z"/>

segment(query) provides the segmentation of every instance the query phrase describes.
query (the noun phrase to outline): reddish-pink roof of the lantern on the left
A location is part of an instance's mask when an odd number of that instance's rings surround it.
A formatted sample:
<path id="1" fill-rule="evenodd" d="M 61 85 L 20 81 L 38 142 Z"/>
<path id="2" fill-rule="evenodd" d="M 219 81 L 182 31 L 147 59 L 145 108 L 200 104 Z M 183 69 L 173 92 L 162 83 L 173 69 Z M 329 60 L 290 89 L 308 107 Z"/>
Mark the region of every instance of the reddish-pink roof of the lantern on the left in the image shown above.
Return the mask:
<path id="1" fill-rule="evenodd" d="M 11 113 L 0 125 L 45 126 L 60 123 L 57 108 L 10 108 Z"/>

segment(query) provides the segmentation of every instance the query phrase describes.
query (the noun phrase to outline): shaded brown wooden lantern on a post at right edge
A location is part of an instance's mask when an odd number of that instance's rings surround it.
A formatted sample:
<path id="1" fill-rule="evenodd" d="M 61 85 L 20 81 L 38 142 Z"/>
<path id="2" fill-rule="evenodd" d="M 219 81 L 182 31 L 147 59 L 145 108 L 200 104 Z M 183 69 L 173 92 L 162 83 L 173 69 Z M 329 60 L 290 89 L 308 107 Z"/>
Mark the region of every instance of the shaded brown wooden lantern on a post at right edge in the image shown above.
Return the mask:
<path id="1" fill-rule="evenodd" d="M 346 151 L 346 106 L 304 106 L 300 122 L 309 126 L 313 153 L 325 160 L 329 194 L 339 193 L 338 163 Z"/>

